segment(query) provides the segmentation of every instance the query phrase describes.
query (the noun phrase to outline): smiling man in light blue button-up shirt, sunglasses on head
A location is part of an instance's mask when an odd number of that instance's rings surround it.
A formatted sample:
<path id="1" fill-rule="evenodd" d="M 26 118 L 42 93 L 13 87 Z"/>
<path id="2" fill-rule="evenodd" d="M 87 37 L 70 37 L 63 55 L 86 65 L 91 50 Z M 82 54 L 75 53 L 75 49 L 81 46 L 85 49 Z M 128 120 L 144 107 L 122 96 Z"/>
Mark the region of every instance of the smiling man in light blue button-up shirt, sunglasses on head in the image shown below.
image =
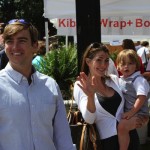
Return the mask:
<path id="1" fill-rule="evenodd" d="M 3 37 L 9 63 L 0 71 L 0 149 L 73 150 L 59 87 L 32 66 L 36 28 L 14 19 Z"/>

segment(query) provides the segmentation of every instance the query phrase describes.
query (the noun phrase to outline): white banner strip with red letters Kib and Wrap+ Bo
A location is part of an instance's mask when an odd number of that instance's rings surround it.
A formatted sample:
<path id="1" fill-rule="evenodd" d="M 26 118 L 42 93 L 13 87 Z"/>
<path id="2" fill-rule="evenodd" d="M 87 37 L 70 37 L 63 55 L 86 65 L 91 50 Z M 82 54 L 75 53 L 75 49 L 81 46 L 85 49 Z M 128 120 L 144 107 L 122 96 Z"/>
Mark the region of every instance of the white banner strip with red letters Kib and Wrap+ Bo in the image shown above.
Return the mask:
<path id="1" fill-rule="evenodd" d="M 50 20 L 57 35 L 76 35 L 76 19 Z M 100 20 L 102 35 L 150 35 L 150 16 L 103 17 Z"/>

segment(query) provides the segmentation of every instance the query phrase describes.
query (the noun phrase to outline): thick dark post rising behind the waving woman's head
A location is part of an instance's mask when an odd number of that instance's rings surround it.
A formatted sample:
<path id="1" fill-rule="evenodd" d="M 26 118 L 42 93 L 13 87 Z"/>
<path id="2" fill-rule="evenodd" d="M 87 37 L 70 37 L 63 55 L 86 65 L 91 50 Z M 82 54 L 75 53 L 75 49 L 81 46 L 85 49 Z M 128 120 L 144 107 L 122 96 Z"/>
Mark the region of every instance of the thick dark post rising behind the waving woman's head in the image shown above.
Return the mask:
<path id="1" fill-rule="evenodd" d="M 86 47 L 101 42 L 100 0 L 76 0 L 78 72 Z"/>

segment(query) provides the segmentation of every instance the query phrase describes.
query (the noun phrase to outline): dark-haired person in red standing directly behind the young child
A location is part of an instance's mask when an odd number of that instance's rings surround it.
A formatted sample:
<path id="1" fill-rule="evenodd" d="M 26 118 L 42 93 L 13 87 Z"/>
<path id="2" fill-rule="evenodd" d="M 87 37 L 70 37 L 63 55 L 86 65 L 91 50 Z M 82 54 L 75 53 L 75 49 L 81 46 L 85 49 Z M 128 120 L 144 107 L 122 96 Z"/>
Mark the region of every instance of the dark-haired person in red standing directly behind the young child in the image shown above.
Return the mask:
<path id="1" fill-rule="evenodd" d="M 136 49 L 135 49 L 135 44 L 134 44 L 132 39 L 124 39 L 123 42 L 122 42 L 122 48 L 126 49 L 126 50 L 132 49 L 135 52 L 137 52 Z M 142 74 L 142 73 L 144 73 L 144 65 L 142 64 L 141 57 L 139 57 L 139 62 L 140 62 L 140 72 Z M 119 74 L 121 75 L 120 72 L 119 72 Z"/>

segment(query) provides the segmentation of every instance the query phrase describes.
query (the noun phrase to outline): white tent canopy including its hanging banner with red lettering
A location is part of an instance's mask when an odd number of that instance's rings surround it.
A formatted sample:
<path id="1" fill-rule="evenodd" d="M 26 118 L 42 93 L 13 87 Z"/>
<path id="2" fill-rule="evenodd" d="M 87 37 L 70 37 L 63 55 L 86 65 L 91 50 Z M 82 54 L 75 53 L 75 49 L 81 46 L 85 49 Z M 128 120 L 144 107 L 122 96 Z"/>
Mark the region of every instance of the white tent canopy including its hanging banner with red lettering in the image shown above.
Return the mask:
<path id="1" fill-rule="evenodd" d="M 100 0 L 100 7 L 102 41 L 149 38 L 149 0 Z M 44 0 L 44 17 L 54 23 L 58 35 L 76 35 L 76 25 L 66 25 L 76 23 L 75 0 Z"/>

